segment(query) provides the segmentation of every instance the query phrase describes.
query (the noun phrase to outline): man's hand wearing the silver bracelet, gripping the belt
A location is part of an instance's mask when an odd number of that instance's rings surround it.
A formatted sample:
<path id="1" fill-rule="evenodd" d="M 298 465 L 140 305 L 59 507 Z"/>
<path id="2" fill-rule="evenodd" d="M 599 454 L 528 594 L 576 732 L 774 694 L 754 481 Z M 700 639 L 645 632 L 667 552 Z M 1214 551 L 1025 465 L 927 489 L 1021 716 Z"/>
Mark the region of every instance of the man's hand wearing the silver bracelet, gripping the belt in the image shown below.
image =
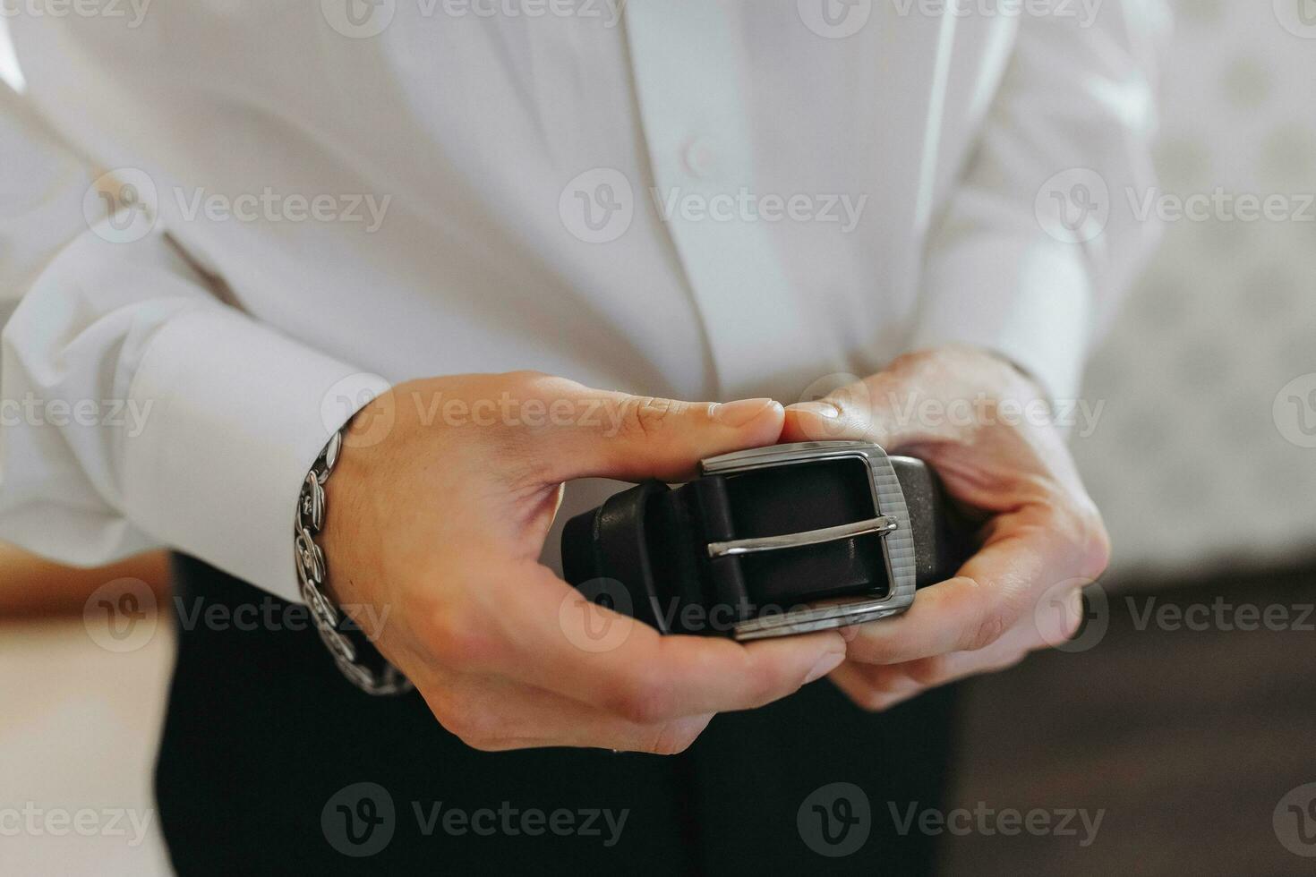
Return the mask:
<path id="1" fill-rule="evenodd" d="M 770 400 L 674 402 L 533 372 L 399 385 L 358 413 L 326 484 L 330 597 L 367 631 L 359 606 L 386 619 L 378 647 L 468 746 L 680 752 L 713 714 L 826 675 L 841 635 L 661 636 L 538 556 L 565 481 L 684 480 L 701 458 L 774 443 L 783 419 Z M 605 648 L 590 642 L 600 628 Z"/>

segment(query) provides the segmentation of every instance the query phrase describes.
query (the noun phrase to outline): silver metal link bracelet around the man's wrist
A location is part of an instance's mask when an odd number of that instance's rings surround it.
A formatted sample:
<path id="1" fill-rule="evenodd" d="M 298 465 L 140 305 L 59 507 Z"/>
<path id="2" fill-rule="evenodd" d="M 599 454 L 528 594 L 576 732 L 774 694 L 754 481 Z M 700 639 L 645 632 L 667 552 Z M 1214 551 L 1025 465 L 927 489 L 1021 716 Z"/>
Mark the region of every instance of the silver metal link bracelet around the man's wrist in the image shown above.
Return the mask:
<path id="1" fill-rule="evenodd" d="M 346 427 L 343 427 L 346 429 Z M 412 690 L 411 680 L 390 664 L 383 655 L 378 656 L 379 669 L 367 667 L 361 660 L 363 650 L 374 651 L 368 638 L 361 634 L 361 646 L 349 639 L 350 632 L 361 632 L 342 611 L 324 594 L 328 568 L 324 551 L 316 544 L 316 535 L 325 526 L 325 483 L 333 473 L 333 467 L 342 452 L 343 430 L 334 433 L 325 450 L 320 452 L 315 465 L 301 483 L 301 496 L 297 498 L 297 519 L 293 526 L 293 546 L 297 555 L 297 580 L 301 582 L 301 598 L 311 609 L 316 631 L 324 642 L 334 664 L 353 685 L 367 694 L 405 694 Z"/>

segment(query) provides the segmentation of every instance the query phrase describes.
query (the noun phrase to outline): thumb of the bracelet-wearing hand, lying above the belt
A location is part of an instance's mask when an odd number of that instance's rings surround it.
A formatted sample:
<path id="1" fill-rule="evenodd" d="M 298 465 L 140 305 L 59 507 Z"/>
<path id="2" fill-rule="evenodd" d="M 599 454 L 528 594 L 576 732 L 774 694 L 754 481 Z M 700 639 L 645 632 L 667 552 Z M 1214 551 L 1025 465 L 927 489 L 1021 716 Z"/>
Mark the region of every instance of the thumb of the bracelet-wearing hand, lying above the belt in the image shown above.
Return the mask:
<path id="1" fill-rule="evenodd" d="M 576 415 L 536 434 L 550 477 L 682 480 L 699 460 L 776 442 L 782 405 L 770 398 L 684 402 L 597 391 L 542 377 L 534 392 Z"/>

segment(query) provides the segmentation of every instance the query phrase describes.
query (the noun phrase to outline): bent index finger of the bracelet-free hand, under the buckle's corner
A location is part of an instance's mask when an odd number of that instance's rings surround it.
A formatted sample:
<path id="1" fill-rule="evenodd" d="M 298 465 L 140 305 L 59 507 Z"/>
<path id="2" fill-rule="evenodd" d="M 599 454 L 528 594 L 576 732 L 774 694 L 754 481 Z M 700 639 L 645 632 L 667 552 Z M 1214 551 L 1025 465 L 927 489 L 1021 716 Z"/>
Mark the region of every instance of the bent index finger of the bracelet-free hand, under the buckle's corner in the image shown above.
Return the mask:
<path id="1" fill-rule="evenodd" d="M 1071 559 L 1041 527 L 1011 527 L 1000 515 L 995 534 L 954 579 L 920 589 L 903 615 L 870 622 L 850 640 L 849 657 L 899 664 L 946 652 L 978 651 L 1012 628 L 1033 596 L 1071 579 Z"/>

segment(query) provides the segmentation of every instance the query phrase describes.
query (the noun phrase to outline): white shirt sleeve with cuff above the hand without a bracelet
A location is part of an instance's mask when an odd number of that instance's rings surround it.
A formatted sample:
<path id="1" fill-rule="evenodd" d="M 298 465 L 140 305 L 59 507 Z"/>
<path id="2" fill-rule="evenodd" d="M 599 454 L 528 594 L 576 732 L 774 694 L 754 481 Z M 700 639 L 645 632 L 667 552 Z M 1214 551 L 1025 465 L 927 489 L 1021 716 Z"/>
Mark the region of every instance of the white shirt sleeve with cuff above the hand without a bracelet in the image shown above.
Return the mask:
<path id="1" fill-rule="evenodd" d="M 1159 230 L 1152 187 L 1152 39 L 1159 4 L 1091 22 L 1023 16 L 975 149 L 934 224 L 916 347 L 995 350 L 1074 398 L 1090 344 Z"/>

